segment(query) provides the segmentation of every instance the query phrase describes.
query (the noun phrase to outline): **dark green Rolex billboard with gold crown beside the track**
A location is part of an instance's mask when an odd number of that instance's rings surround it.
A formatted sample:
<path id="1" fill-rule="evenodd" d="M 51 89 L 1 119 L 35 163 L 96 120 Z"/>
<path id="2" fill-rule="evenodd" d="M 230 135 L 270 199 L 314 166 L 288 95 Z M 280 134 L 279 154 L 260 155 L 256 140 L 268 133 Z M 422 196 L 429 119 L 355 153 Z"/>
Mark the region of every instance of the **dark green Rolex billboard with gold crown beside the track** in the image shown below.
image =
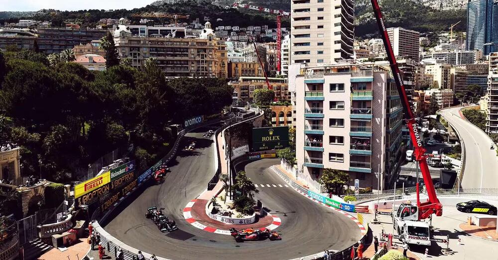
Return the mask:
<path id="1" fill-rule="evenodd" d="M 282 149 L 289 146 L 289 127 L 252 128 L 252 151 Z"/>

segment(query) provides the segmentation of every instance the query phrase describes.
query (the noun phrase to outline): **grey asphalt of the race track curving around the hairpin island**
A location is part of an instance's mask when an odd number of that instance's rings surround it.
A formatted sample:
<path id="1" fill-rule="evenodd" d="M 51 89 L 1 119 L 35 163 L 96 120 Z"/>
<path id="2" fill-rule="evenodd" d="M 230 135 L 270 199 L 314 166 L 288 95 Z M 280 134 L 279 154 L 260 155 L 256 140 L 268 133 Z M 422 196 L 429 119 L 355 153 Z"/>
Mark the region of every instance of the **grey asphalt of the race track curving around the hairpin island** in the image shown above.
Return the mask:
<path id="1" fill-rule="evenodd" d="M 324 249 L 345 249 L 361 237 L 358 226 L 349 218 L 312 202 L 286 184 L 269 166 L 278 159 L 241 164 L 258 188 L 257 197 L 271 214 L 281 218 L 275 230 L 282 241 L 236 243 L 233 237 L 209 233 L 191 226 L 183 218 L 183 208 L 206 189 L 214 174 L 214 143 L 202 137 L 207 128 L 188 133 L 180 147 L 196 140 L 196 150 L 180 151 L 170 165 L 165 182 L 152 185 L 129 201 L 105 226 L 107 232 L 138 250 L 173 260 L 191 259 L 295 259 Z M 276 187 L 273 187 L 275 184 Z M 279 187 L 279 185 L 282 187 Z M 147 207 L 157 206 L 172 217 L 178 230 L 161 233 L 150 219 Z"/>

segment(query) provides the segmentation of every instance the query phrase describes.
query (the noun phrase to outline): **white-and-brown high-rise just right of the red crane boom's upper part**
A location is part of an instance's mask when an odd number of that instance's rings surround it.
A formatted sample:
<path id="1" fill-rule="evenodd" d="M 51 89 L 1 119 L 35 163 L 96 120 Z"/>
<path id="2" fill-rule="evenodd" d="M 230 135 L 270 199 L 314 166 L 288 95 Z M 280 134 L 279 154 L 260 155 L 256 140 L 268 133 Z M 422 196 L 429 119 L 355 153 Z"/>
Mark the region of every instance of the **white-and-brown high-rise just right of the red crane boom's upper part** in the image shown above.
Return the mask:
<path id="1" fill-rule="evenodd" d="M 389 35 L 394 56 L 409 57 L 415 62 L 420 60 L 419 32 L 397 27 L 387 28 L 387 34 Z"/>

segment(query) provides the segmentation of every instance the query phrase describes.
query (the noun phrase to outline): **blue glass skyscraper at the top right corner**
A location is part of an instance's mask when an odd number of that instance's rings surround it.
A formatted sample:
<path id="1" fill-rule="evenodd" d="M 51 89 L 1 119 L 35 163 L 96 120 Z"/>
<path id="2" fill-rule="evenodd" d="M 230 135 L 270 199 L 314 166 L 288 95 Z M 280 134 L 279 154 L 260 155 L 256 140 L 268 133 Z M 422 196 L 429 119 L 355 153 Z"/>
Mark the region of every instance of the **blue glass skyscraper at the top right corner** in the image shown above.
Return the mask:
<path id="1" fill-rule="evenodd" d="M 481 50 L 484 55 L 498 50 L 498 1 L 469 0 L 466 49 Z"/>

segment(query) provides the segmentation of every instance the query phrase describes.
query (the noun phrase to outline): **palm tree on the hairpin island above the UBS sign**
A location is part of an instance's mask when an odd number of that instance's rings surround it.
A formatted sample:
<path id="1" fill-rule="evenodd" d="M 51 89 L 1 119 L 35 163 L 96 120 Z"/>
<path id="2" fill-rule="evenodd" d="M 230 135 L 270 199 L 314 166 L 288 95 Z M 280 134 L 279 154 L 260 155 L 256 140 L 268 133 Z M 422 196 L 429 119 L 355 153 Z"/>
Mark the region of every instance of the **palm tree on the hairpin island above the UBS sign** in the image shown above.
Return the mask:
<path id="1" fill-rule="evenodd" d="M 246 175 L 246 172 L 240 171 L 235 177 L 234 184 L 234 205 L 238 212 L 250 215 L 254 212 L 253 206 L 256 203 L 254 193 L 256 189 L 254 182 Z"/>

